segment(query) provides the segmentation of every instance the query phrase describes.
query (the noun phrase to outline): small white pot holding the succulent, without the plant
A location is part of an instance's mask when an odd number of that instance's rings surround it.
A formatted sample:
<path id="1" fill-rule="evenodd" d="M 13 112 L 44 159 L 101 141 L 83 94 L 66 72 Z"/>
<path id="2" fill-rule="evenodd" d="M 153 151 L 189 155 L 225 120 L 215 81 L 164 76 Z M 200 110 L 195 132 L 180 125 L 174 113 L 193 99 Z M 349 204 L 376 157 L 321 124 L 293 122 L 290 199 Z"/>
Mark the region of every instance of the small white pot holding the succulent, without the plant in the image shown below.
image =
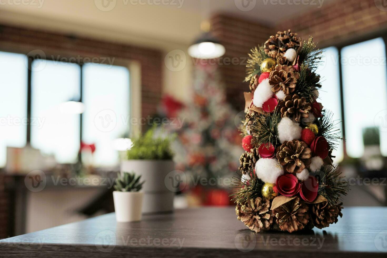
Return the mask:
<path id="1" fill-rule="evenodd" d="M 144 193 L 113 191 L 113 200 L 117 222 L 141 220 Z"/>

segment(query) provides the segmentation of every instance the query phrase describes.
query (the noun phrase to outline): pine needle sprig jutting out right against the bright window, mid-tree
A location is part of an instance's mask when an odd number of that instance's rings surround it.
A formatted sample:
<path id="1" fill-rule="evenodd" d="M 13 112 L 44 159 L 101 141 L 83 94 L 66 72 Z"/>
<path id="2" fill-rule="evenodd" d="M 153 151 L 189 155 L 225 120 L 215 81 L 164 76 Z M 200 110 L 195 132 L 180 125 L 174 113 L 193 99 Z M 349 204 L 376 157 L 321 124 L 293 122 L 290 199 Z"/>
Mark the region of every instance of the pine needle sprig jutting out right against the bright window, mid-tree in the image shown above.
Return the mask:
<path id="1" fill-rule="evenodd" d="M 327 109 L 322 111 L 322 117 L 318 118 L 319 133 L 317 136 L 322 136 L 327 140 L 330 149 L 336 150 L 337 145 L 341 140 L 344 140 L 340 136 L 340 129 L 337 127 L 340 120 L 333 120 L 333 112 Z"/>

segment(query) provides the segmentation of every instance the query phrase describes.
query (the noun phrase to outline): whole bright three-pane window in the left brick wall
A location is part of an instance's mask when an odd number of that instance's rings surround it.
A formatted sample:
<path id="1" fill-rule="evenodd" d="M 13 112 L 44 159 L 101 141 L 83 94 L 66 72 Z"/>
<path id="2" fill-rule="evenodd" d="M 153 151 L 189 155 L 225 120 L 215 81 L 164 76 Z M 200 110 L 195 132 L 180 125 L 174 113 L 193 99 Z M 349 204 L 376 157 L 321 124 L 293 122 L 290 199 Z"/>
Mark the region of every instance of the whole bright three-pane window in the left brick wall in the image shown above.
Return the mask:
<path id="1" fill-rule="evenodd" d="M 44 155 L 54 155 L 58 163 L 75 163 L 81 141 L 96 145 L 94 165 L 118 163 L 113 140 L 129 129 L 127 68 L 0 52 L 0 87 L 0 133 L 6 135 L 0 137 L 0 167 L 5 166 L 7 146 L 27 143 Z M 82 101 L 85 112 L 66 112 L 67 101 Z M 101 122 L 110 121 L 103 121 L 109 112 L 114 114 L 114 126 L 104 128 Z"/>

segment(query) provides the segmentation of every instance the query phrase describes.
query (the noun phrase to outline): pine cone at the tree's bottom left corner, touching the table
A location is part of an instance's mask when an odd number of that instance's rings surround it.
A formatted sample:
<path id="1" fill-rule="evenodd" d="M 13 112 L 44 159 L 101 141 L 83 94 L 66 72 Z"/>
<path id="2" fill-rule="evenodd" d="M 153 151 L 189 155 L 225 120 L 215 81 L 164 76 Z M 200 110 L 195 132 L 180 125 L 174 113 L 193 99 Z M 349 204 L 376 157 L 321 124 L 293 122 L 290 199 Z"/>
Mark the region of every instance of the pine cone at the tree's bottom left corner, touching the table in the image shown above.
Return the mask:
<path id="1" fill-rule="evenodd" d="M 269 230 L 273 224 L 273 213 L 269 210 L 270 200 L 257 197 L 250 199 L 248 203 L 241 206 L 242 217 L 241 221 L 245 225 L 255 231 Z"/>

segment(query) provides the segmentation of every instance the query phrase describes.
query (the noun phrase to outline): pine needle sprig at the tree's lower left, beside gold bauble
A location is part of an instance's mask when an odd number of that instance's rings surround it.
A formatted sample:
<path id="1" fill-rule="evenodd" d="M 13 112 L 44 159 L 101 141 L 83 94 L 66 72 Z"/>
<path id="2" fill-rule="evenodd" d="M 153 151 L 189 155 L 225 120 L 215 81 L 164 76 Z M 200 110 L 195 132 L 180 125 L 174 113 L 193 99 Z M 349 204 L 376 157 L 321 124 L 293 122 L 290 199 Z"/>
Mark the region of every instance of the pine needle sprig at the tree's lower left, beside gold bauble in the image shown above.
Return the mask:
<path id="1" fill-rule="evenodd" d="M 231 182 L 231 186 L 233 186 L 231 188 L 237 188 L 236 191 L 231 193 L 231 200 L 243 205 L 250 199 L 262 197 L 261 190 L 264 182 L 254 172 L 249 174 L 250 180 L 242 180 L 241 174 L 238 173 L 238 175 L 233 176 L 233 181 Z"/>

